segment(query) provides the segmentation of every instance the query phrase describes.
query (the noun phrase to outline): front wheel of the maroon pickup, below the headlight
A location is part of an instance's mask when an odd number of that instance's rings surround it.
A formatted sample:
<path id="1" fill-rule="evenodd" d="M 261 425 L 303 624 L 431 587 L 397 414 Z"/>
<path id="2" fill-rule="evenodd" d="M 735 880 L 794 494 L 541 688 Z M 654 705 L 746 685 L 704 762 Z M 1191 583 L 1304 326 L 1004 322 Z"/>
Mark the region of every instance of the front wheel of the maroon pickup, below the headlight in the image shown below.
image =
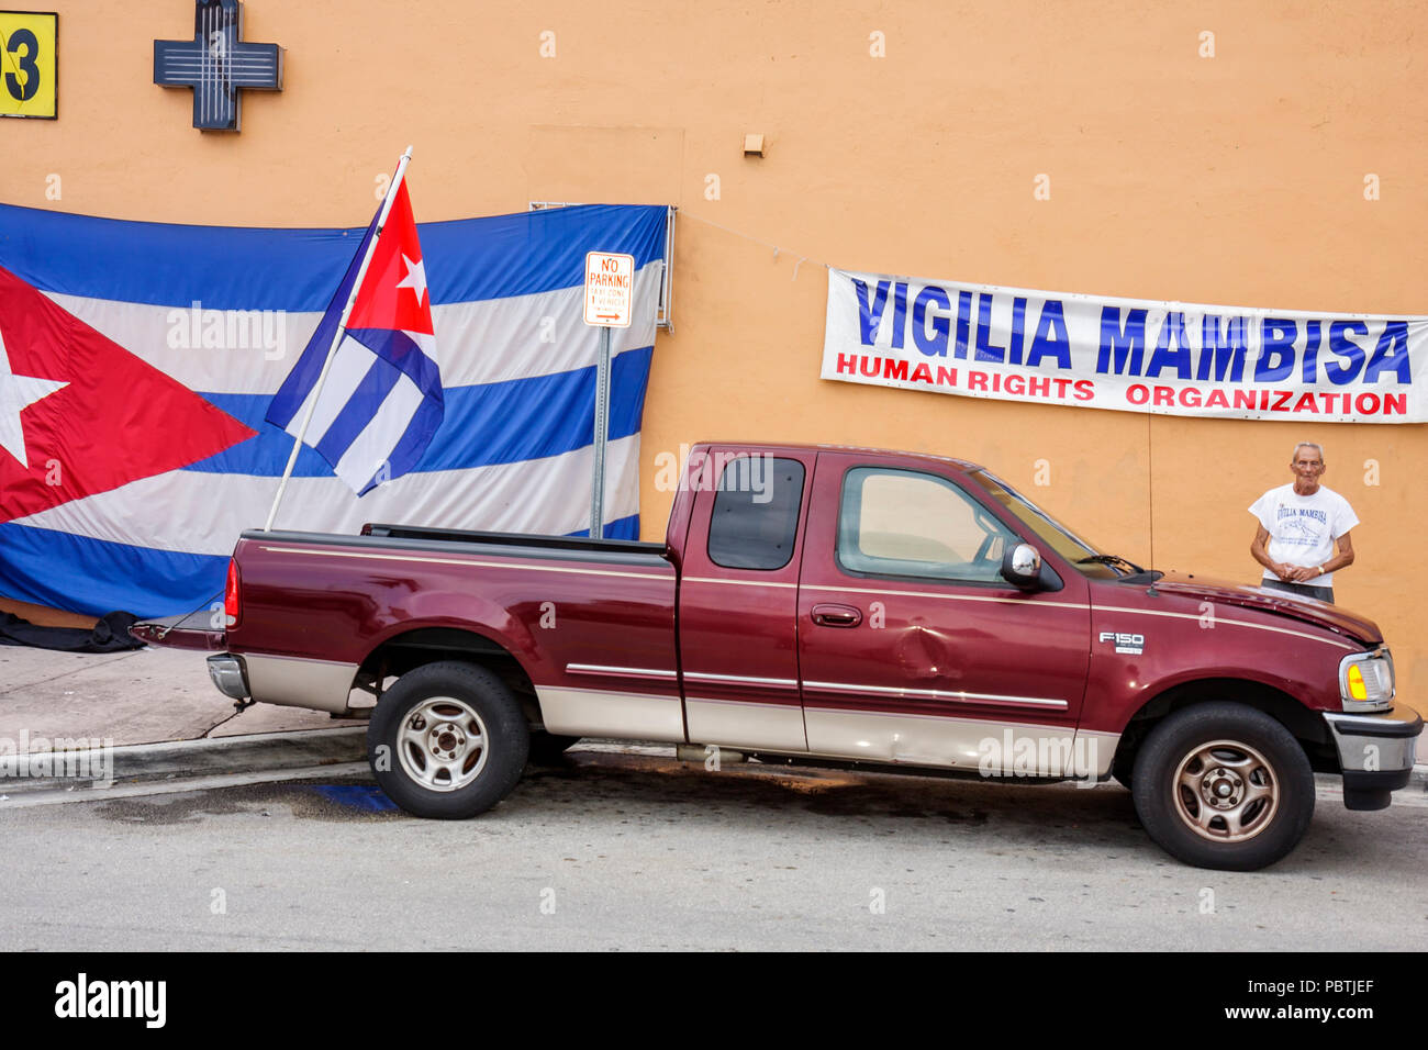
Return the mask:
<path id="1" fill-rule="evenodd" d="M 1275 863 L 1314 816 L 1304 749 L 1275 719 L 1235 703 L 1197 704 L 1160 723 L 1135 756 L 1131 793 L 1167 853 L 1221 871 Z"/>

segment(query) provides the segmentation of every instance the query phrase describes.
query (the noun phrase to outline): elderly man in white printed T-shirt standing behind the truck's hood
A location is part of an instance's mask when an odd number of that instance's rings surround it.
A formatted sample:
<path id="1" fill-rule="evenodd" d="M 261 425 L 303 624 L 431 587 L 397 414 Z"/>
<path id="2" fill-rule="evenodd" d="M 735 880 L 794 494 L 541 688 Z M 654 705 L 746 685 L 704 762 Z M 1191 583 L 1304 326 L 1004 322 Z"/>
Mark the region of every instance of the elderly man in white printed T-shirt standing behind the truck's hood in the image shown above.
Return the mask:
<path id="1" fill-rule="evenodd" d="M 1349 530 L 1358 524 L 1348 500 L 1319 484 L 1324 449 L 1294 446 L 1294 483 L 1271 489 L 1250 507 L 1259 519 L 1250 553 L 1264 566 L 1261 586 L 1334 601 L 1334 570 L 1354 564 Z M 1268 546 L 1265 546 L 1268 544 Z"/>

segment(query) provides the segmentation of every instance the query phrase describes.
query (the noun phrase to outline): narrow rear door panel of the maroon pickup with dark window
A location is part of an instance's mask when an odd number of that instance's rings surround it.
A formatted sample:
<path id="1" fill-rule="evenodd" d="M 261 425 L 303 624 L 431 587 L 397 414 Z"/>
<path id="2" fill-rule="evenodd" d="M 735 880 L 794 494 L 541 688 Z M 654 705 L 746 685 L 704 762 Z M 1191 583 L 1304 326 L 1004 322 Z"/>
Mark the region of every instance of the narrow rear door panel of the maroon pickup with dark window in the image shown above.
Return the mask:
<path id="1" fill-rule="evenodd" d="M 680 579 L 690 743 L 808 749 L 794 617 L 813 463 L 807 451 L 718 449 L 691 463 L 698 487 Z"/>

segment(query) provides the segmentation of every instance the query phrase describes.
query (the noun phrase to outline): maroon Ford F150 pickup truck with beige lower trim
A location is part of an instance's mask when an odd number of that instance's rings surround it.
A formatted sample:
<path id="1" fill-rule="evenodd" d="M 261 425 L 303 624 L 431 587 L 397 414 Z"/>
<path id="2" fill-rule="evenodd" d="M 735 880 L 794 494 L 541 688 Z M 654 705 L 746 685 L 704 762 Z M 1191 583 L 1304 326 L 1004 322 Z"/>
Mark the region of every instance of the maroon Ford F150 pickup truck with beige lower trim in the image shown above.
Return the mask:
<path id="1" fill-rule="evenodd" d="M 1127 784 L 1175 857 L 1251 870 L 1314 813 L 1408 783 L 1378 627 L 1312 600 L 1145 571 L 987 470 L 871 449 L 700 444 L 664 543 L 366 526 L 248 531 L 224 650 L 240 701 L 353 714 L 424 817 L 498 803 L 578 737 L 764 761 Z"/>

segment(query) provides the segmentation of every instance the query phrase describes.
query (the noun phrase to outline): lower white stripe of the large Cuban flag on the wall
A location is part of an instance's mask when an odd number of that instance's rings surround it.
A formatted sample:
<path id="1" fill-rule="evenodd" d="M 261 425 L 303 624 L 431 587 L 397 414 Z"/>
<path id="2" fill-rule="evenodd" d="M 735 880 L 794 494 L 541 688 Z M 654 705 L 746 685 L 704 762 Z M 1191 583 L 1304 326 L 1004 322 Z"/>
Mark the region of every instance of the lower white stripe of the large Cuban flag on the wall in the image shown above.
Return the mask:
<path id="1" fill-rule="evenodd" d="M 277 526 L 353 534 L 366 521 L 563 536 L 590 524 L 591 446 L 520 463 L 404 474 L 360 500 L 337 477 L 294 477 Z M 640 436 L 607 450 L 605 521 L 640 510 Z M 71 500 L 14 524 L 111 543 L 230 554 L 238 533 L 258 529 L 276 477 L 171 470 Z M 478 499 L 473 499 L 473 493 Z M 163 507 L 163 514 L 154 514 Z"/>

